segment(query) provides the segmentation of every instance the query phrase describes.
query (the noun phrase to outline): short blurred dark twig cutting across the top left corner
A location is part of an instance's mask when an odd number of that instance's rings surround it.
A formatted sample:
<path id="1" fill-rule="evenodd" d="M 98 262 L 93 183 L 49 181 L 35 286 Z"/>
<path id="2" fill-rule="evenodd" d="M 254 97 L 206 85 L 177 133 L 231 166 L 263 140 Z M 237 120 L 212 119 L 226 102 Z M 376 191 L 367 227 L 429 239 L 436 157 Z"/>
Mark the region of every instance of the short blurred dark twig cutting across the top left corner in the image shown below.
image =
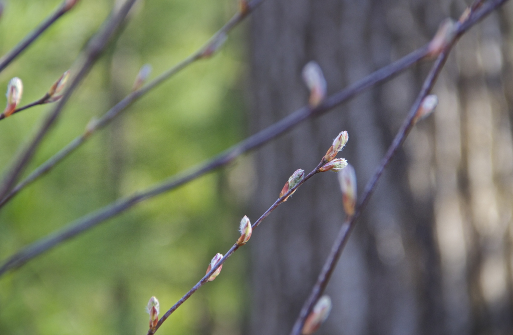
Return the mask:
<path id="1" fill-rule="evenodd" d="M 27 36 L 23 38 L 14 48 L 0 58 L 0 72 L 2 72 L 14 58 L 22 53 L 37 37 L 39 37 L 48 27 L 50 27 L 58 18 L 66 14 L 77 3 L 77 0 L 65 0 L 61 5 L 55 9 L 53 13 L 48 15 L 39 26 L 34 28 Z M 3 5 L 0 4 L 3 8 Z"/>

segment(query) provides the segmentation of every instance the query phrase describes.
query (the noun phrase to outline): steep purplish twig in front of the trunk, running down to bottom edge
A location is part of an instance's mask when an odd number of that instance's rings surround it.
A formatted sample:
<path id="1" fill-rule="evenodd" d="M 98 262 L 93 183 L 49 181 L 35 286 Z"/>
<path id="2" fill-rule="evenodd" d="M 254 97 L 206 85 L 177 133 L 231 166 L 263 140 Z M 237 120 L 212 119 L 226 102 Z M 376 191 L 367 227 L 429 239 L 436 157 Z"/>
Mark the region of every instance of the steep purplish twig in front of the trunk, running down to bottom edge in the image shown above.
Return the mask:
<path id="1" fill-rule="evenodd" d="M 489 3 L 486 8 L 483 8 L 483 10 L 479 13 L 476 13 L 475 21 L 474 23 L 478 22 L 479 19 L 484 17 L 484 15 L 488 14 L 490 11 L 496 9 L 499 7 L 502 3 L 504 3 L 507 0 L 503 1 L 496 1 Z M 479 7 L 479 6 L 477 6 Z M 469 18 L 468 20 L 470 20 Z M 461 26 L 464 26 L 466 22 L 462 23 Z M 467 29 L 470 26 L 466 26 Z M 433 88 L 433 85 L 435 85 L 438 75 L 440 74 L 443 66 L 445 65 L 445 61 L 447 60 L 447 56 L 452 48 L 452 46 L 456 43 L 456 40 L 459 36 L 463 34 L 464 30 L 459 30 L 457 33 L 455 39 L 440 53 L 440 55 L 437 57 L 437 60 L 435 64 L 431 67 L 431 70 L 429 71 L 429 74 L 426 77 L 426 80 L 424 81 L 424 84 L 422 86 L 421 91 L 419 92 L 419 95 L 417 96 L 417 100 L 415 103 L 413 103 L 413 106 L 411 107 L 406 119 L 404 120 L 400 130 L 394 137 L 394 140 L 392 144 L 389 146 L 385 156 L 383 157 L 380 165 L 377 167 L 376 171 L 372 175 L 372 178 L 369 180 L 367 185 L 365 186 L 364 192 L 362 194 L 362 199 L 360 200 L 360 203 L 357 207 L 356 212 L 353 216 L 348 218 L 341 226 L 339 233 L 337 235 L 337 238 L 335 242 L 333 243 L 330 253 L 324 263 L 324 266 L 321 270 L 321 273 L 319 274 L 319 277 L 317 279 L 317 282 L 313 286 L 310 295 L 308 299 L 305 301 L 305 304 L 303 305 L 303 308 L 301 309 L 301 312 L 299 314 L 298 319 L 294 323 L 294 326 L 292 328 L 292 331 L 290 332 L 290 335 L 300 335 L 301 330 L 303 328 L 303 325 L 305 323 L 306 318 L 308 317 L 308 314 L 311 312 L 313 306 L 319 298 L 321 297 L 322 293 L 326 289 L 326 286 L 328 285 L 328 282 L 331 278 L 331 274 L 334 270 L 334 268 L 337 265 L 337 262 L 340 258 L 340 255 L 347 244 L 347 241 L 349 240 L 350 234 L 356 226 L 356 222 L 361 215 L 362 211 L 365 209 L 365 207 L 368 204 L 368 201 L 370 200 L 370 197 L 372 196 L 374 190 L 376 189 L 376 186 L 378 184 L 379 179 L 381 178 L 381 175 L 385 171 L 387 165 L 392 160 L 393 156 L 396 155 L 397 151 L 401 147 L 401 145 L 406 140 L 406 137 L 408 136 L 409 132 L 415 125 L 415 115 L 417 111 L 419 110 L 422 101 L 424 98 L 429 94 L 431 89 Z"/>

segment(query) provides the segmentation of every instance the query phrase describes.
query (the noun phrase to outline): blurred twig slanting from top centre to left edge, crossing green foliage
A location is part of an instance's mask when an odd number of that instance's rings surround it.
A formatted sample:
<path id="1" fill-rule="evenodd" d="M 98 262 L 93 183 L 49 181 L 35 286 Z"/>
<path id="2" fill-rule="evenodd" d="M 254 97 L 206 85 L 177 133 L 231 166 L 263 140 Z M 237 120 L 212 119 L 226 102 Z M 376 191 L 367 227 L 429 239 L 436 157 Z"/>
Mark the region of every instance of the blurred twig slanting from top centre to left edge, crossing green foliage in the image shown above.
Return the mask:
<path id="1" fill-rule="evenodd" d="M 14 195 L 16 195 L 19 191 L 21 191 L 24 187 L 31 184 L 35 180 L 37 180 L 40 176 L 44 175 L 48 171 L 50 171 L 56 164 L 58 164 L 60 161 L 65 159 L 71 152 L 76 150 L 78 147 L 80 147 L 84 142 L 87 141 L 87 139 L 91 136 L 92 133 L 94 133 L 97 130 L 100 130 L 107 126 L 117 115 L 119 115 L 122 111 L 124 111 L 128 106 L 130 106 L 135 101 L 139 100 L 139 98 L 146 93 L 148 93 L 150 90 L 154 89 L 155 87 L 162 84 L 164 81 L 172 77 L 174 74 L 179 72 L 180 70 L 186 68 L 188 65 L 194 63 L 195 61 L 198 61 L 202 58 L 204 58 L 205 50 L 208 50 L 209 48 L 212 48 L 212 45 L 214 45 L 220 36 L 227 34 L 230 30 L 232 30 L 236 25 L 238 25 L 240 22 L 243 21 L 245 17 L 247 17 L 255 8 L 257 8 L 258 5 L 262 3 L 263 0 L 253 0 L 252 2 L 248 3 L 248 7 L 245 9 L 244 12 L 237 12 L 235 15 L 232 16 L 231 19 L 223 26 L 221 29 L 219 29 L 209 40 L 207 43 L 205 43 L 204 46 L 193 52 L 191 55 L 189 55 L 187 58 L 185 58 L 180 63 L 176 64 L 169 70 L 165 71 L 161 75 L 157 76 L 154 80 L 143 86 L 142 88 L 135 90 L 128 94 L 126 97 L 123 98 L 119 103 L 117 103 L 115 106 L 113 106 L 110 110 L 108 110 L 105 114 L 100 117 L 97 121 L 91 123 L 86 129 L 86 131 L 80 135 L 75 137 L 74 140 L 72 140 L 70 143 L 68 143 L 63 149 L 58 151 L 56 154 L 54 154 L 52 157 L 50 157 L 45 163 L 41 164 L 39 167 L 37 167 L 34 171 L 32 171 L 27 178 L 25 178 L 23 181 L 18 183 L 6 196 L 5 198 L 0 198 L 2 201 L 0 201 L 0 207 L 4 206 L 9 200 L 13 198 Z M 31 104 L 30 106 L 24 106 L 23 109 L 32 107 L 34 105 L 37 105 L 36 103 Z M 20 108 L 19 110 L 22 110 Z M 16 110 L 15 112 L 19 111 Z M 0 120 L 4 119 L 2 117 L 2 114 L 0 114 Z"/>

